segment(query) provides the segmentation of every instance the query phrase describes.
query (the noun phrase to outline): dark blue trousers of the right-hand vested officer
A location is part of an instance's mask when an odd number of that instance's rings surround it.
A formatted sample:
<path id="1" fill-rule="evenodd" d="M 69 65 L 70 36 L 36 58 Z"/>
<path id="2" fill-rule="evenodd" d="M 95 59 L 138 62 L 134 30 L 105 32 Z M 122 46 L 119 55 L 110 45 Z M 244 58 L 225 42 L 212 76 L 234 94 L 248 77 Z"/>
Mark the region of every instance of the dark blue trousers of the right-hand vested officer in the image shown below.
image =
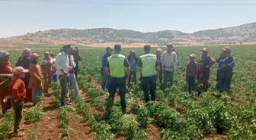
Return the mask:
<path id="1" fill-rule="evenodd" d="M 151 100 L 155 101 L 156 76 L 142 77 L 142 89 L 146 102 L 150 100 L 149 91 L 151 95 Z"/>

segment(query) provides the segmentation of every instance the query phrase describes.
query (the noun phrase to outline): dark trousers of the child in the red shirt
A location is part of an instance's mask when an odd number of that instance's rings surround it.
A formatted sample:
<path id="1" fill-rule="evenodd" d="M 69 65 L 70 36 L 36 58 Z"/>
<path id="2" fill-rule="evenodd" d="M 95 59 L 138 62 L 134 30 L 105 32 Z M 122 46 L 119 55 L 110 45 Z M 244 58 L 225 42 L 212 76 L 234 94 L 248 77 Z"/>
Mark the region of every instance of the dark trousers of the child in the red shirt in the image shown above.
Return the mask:
<path id="1" fill-rule="evenodd" d="M 14 102 L 14 99 L 11 99 L 11 105 L 14 109 L 14 132 L 18 132 L 22 119 L 24 99 L 19 99 L 17 102 Z"/>

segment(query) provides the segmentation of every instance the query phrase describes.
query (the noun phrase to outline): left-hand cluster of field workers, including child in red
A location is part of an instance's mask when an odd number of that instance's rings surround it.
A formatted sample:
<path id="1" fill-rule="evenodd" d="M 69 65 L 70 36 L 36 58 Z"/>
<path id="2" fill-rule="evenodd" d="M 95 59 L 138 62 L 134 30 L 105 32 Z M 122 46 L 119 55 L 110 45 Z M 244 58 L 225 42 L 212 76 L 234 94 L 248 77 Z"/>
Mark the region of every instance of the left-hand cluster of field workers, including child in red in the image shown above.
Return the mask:
<path id="1" fill-rule="evenodd" d="M 16 67 L 12 68 L 9 61 L 10 53 L 0 51 L 0 101 L 2 113 L 14 109 L 14 135 L 21 129 L 20 123 L 24 102 L 37 103 L 44 94 L 48 94 L 49 87 L 57 81 L 57 76 L 62 86 L 61 104 L 69 105 L 69 86 L 72 86 L 76 95 L 79 95 L 78 84 L 78 61 L 81 61 L 78 48 L 64 45 L 59 54 L 44 51 L 44 57 L 30 48 L 25 48 L 18 58 Z"/>

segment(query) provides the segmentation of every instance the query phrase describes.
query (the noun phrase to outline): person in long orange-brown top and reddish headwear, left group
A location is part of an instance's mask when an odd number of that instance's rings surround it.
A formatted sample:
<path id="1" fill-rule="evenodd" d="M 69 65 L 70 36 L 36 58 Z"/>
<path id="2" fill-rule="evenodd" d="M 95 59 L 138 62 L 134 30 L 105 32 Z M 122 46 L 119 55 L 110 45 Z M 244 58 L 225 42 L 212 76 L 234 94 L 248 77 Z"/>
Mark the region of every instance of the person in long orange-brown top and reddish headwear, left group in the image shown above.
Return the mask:
<path id="1" fill-rule="evenodd" d="M 41 67 L 38 64 L 39 55 L 34 53 L 30 55 L 30 82 L 28 84 L 28 88 L 32 89 L 32 100 L 33 103 L 37 103 L 37 97 L 42 95 L 43 86 L 42 86 L 42 71 Z"/>

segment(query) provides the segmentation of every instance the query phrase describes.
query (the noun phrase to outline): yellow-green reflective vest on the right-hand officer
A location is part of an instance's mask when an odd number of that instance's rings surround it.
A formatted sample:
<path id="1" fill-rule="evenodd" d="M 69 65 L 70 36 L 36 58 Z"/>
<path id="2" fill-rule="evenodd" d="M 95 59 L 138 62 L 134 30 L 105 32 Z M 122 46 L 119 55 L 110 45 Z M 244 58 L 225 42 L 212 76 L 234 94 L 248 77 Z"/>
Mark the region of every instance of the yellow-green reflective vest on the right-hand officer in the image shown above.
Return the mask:
<path id="1" fill-rule="evenodd" d="M 145 54 L 140 56 L 140 59 L 142 61 L 142 76 L 148 77 L 148 76 L 155 76 L 156 70 L 155 70 L 155 64 L 157 61 L 157 58 L 154 54 Z"/>

